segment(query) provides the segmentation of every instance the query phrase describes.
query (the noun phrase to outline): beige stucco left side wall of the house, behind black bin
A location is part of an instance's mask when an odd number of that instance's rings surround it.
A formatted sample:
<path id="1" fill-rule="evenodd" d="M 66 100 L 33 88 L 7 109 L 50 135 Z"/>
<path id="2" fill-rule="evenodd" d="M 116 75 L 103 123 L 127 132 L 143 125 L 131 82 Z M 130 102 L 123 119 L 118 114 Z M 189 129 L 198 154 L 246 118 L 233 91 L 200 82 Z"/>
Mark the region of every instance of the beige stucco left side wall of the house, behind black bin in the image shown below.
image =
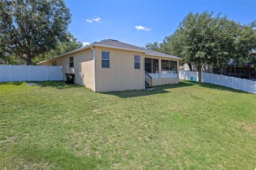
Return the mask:
<path id="1" fill-rule="evenodd" d="M 74 68 L 69 68 L 69 57 L 74 56 Z M 63 79 L 65 73 L 75 74 L 75 84 L 82 85 L 94 90 L 94 63 L 93 50 L 91 48 L 61 56 L 58 59 L 53 59 L 39 64 L 40 66 L 50 65 L 51 62 L 57 61 L 57 66 L 62 66 Z"/>

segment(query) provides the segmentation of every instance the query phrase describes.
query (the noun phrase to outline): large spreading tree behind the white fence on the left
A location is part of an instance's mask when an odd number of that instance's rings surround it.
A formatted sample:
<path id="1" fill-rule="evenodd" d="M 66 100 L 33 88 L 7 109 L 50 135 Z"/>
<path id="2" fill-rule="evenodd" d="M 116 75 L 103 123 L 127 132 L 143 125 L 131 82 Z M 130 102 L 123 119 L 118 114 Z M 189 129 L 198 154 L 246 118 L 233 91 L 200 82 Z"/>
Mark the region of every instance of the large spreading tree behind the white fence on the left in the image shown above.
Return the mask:
<path id="1" fill-rule="evenodd" d="M 4 54 L 31 64 L 66 39 L 70 10 L 62 0 L 0 1 L 0 44 Z"/>

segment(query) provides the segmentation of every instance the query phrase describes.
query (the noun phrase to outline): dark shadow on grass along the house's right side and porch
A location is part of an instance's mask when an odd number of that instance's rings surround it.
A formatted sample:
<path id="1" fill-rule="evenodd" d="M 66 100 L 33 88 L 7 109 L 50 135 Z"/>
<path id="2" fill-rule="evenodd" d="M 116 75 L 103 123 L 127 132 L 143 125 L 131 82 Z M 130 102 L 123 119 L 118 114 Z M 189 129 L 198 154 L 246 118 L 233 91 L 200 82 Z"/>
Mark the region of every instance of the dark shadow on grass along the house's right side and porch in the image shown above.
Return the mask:
<path id="1" fill-rule="evenodd" d="M 119 98 L 134 98 L 134 97 L 138 97 L 138 96 L 169 93 L 169 91 L 167 91 L 167 89 L 180 88 L 180 87 L 193 86 L 193 85 L 195 85 L 195 84 L 190 83 L 190 82 L 180 82 L 179 84 L 154 86 L 153 88 L 155 88 L 155 90 L 153 90 L 153 91 L 133 90 L 133 91 L 123 91 L 123 92 L 108 92 L 108 93 L 103 93 L 103 94 L 115 95 L 115 96 L 118 96 Z"/>

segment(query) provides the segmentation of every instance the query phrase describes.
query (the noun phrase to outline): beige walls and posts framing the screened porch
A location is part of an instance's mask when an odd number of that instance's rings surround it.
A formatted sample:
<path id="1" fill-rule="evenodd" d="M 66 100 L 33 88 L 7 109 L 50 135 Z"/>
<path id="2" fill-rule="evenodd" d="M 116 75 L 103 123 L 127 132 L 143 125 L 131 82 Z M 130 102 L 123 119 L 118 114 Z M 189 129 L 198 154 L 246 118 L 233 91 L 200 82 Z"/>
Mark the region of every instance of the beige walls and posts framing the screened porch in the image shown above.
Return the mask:
<path id="1" fill-rule="evenodd" d="M 170 58 L 163 58 L 163 57 L 159 57 L 159 56 L 150 56 L 150 55 L 145 55 L 145 58 L 158 59 L 158 68 L 159 68 L 160 72 L 161 72 L 161 68 L 162 68 L 161 60 L 177 61 L 177 77 L 176 78 L 162 78 L 161 74 L 159 74 L 159 78 L 152 78 L 152 85 L 153 86 L 179 83 L 179 60 L 170 59 Z"/>

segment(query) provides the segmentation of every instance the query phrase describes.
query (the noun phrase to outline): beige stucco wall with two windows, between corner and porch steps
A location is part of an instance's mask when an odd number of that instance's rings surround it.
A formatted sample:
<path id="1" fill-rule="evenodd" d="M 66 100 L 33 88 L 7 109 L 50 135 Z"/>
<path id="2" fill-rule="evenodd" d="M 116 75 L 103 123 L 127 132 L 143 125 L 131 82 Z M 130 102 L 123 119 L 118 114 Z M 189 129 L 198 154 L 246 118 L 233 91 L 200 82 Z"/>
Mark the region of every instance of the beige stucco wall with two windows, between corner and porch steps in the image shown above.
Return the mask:
<path id="1" fill-rule="evenodd" d="M 110 68 L 101 68 L 101 51 L 109 51 Z M 140 69 L 134 69 L 134 55 L 140 55 Z M 143 89 L 143 53 L 95 47 L 96 91 Z"/>

